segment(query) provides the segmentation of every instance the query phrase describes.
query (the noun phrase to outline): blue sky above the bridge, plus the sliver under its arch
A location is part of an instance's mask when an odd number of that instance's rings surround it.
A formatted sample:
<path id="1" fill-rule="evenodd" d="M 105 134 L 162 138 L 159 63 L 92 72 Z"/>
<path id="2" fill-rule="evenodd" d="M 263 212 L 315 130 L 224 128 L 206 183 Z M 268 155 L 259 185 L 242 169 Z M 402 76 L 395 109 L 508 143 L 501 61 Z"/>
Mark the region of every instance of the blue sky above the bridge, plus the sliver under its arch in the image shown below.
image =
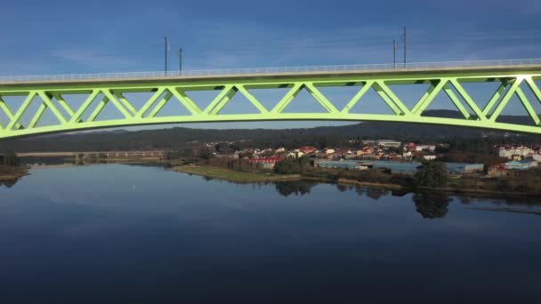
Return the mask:
<path id="1" fill-rule="evenodd" d="M 535 0 L 3 1 L 0 76 L 162 70 L 163 36 L 185 69 L 387 63 L 403 26 L 408 61 L 538 58 L 539 15 Z"/>

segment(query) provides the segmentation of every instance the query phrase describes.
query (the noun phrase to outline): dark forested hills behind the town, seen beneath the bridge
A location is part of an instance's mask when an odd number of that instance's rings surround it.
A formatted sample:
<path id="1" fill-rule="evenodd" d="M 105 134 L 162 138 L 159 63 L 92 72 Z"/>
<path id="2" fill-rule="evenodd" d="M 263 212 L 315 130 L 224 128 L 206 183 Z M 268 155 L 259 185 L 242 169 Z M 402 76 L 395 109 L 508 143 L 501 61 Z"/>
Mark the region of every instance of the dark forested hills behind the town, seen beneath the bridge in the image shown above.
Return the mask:
<path id="1" fill-rule="evenodd" d="M 457 117 L 456 111 L 432 110 L 425 116 Z M 459 115 L 459 114 L 458 114 Z M 531 124 L 529 116 L 501 116 L 499 122 Z M 44 135 L 33 138 L 0 141 L 0 150 L 15 151 L 96 151 L 131 149 L 180 148 L 197 142 L 247 141 L 254 147 L 295 148 L 299 145 L 335 145 L 348 139 L 446 140 L 476 137 L 520 138 L 541 141 L 541 136 L 514 134 L 449 125 L 366 122 L 341 126 L 299 129 L 192 129 L 174 127 L 161 130 L 97 131 L 72 134 Z"/>

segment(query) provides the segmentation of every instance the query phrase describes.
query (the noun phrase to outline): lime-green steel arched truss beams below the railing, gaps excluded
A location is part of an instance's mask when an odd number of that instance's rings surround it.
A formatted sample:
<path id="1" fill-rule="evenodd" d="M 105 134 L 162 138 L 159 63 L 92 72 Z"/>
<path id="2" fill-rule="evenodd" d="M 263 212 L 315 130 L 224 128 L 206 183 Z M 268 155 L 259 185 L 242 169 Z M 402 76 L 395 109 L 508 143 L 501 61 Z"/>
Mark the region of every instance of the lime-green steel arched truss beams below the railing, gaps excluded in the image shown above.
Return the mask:
<path id="1" fill-rule="evenodd" d="M 288 120 L 336 120 L 336 121 L 388 121 L 416 124 L 448 124 L 465 127 L 487 128 L 509 132 L 530 132 L 541 134 L 541 119 L 533 103 L 541 103 L 541 92 L 535 80 L 541 78 L 539 71 L 506 70 L 499 72 L 447 71 L 446 73 L 411 73 L 411 74 L 374 74 L 374 75 L 328 75 L 328 76 L 271 76 L 271 77 L 223 77 L 217 79 L 162 79 L 137 80 L 125 82 L 80 82 L 65 84 L 10 84 L 0 85 L 0 139 L 20 136 L 40 135 L 51 132 L 73 132 L 109 127 L 147 125 L 147 124 L 182 124 L 211 122 L 248 122 L 248 121 L 288 121 Z M 480 105 L 474 100 L 462 84 L 486 83 L 498 84 L 488 104 Z M 392 87 L 389 85 L 392 84 Z M 416 100 L 412 108 L 400 100 L 395 86 L 412 84 L 431 84 L 424 94 Z M 528 84 L 535 100 L 521 88 Z M 329 100 L 322 87 L 359 87 L 359 91 L 345 106 L 338 107 Z M 283 98 L 276 100 L 272 108 L 263 106 L 254 94 L 257 89 L 284 89 L 288 91 Z M 186 92 L 220 91 L 206 108 L 199 108 L 197 100 L 192 100 Z M 302 91 L 308 92 L 323 111 L 313 113 L 306 102 L 302 113 L 287 113 L 285 109 Z M 359 102 L 367 98 L 367 92 L 374 90 L 385 104 L 392 109 L 392 114 L 370 114 L 369 108 L 362 108 L 359 113 L 352 113 Z M 136 107 L 125 93 L 151 92 L 148 100 L 143 100 L 141 108 Z M 433 100 L 440 94 L 447 94 L 464 118 L 440 118 L 422 116 Z M 85 94 L 85 101 L 80 106 L 69 102 L 71 95 Z M 221 114 L 236 95 L 246 97 L 259 113 Z M 509 100 L 516 95 L 522 107 L 527 111 L 535 125 L 504 124 L 497 118 L 508 109 Z M 24 96 L 19 104 L 5 102 L 6 97 Z M 176 100 L 172 100 L 172 99 Z M 39 108 L 30 107 L 36 100 L 42 101 Z M 130 97 L 131 99 L 131 97 Z M 53 100 L 58 101 L 57 103 Z M 185 108 L 182 113 L 167 113 L 157 116 L 167 102 L 180 102 Z M 101 119 L 100 114 L 108 104 L 114 106 L 122 115 L 116 119 Z M 63 111 L 61 111 L 63 109 Z M 228 108 L 229 109 L 229 108 Z M 44 112 L 50 110 L 58 122 L 44 121 Z M 234 110 L 234 108 L 231 108 Z M 89 113 L 83 119 L 85 113 Z M 188 114 L 186 114 L 188 113 Z M 21 122 L 22 117 L 31 117 L 30 122 Z M 2 117 L 2 116 L 0 116 Z"/>

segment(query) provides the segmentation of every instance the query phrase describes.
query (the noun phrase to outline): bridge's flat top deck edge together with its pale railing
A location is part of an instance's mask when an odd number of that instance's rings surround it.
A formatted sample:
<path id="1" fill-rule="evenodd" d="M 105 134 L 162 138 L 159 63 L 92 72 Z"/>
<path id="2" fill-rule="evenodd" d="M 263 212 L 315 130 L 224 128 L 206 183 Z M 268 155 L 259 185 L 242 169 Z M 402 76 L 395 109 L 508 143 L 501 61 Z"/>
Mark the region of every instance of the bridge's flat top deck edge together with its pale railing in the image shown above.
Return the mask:
<path id="1" fill-rule="evenodd" d="M 481 64 L 478 64 L 478 63 Z M 498 63 L 499 62 L 499 63 Z M 497 72 L 528 72 L 541 70 L 541 60 L 527 60 L 509 63 L 510 60 L 500 60 L 496 63 L 482 64 L 484 61 L 452 63 L 412 63 L 403 64 L 374 64 L 354 66 L 324 66 L 297 68 L 238 68 L 171 72 L 126 72 L 105 74 L 76 74 L 51 76 L 0 76 L 0 87 L 32 85 L 32 84 L 138 84 L 166 83 L 171 81 L 206 81 L 206 80 L 238 80 L 238 79 L 275 79 L 299 78 L 303 76 L 340 77 L 340 76 L 418 76 L 446 75 L 456 73 L 497 73 Z"/>

